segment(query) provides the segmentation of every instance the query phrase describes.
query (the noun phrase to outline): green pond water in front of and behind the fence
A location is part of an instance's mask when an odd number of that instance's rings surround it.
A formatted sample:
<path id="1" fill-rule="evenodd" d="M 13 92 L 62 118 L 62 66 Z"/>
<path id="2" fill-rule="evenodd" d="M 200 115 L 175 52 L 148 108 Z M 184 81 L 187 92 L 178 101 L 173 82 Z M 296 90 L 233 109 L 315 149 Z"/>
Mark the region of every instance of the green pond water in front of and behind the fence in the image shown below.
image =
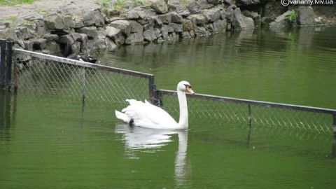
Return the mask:
<path id="1" fill-rule="evenodd" d="M 198 93 L 336 109 L 335 35 L 332 27 L 235 31 L 123 46 L 99 59 L 154 73 L 158 88 L 185 79 Z M 114 118 L 124 104 L 83 106 L 20 89 L 0 96 L 0 188 L 336 187 L 330 133 L 197 116 L 187 131 L 148 130 Z"/>

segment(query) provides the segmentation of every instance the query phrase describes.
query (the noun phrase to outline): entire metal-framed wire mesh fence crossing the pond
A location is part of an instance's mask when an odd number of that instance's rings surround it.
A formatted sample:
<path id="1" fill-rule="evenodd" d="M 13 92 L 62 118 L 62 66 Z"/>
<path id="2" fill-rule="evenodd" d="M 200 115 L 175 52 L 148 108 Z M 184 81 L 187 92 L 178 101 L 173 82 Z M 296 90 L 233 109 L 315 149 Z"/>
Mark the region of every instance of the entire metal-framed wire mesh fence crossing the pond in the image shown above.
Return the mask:
<path id="1" fill-rule="evenodd" d="M 178 114 L 176 92 L 156 90 L 153 74 L 26 50 L 15 49 L 11 55 L 5 49 L 1 45 L 0 78 L 3 79 L 0 83 L 14 86 L 18 94 L 33 94 L 36 97 L 50 95 L 78 102 L 92 102 L 99 106 L 120 104 L 120 107 L 126 105 L 125 99 L 149 99 L 172 115 Z M 3 64 L 6 64 L 4 67 L 7 69 L 3 69 Z M 211 123 L 238 123 L 247 127 L 265 125 L 336 133 L 336 110 L 333 109 L 208 94 L 188 94 L 188 98 L 190 117 Z"/>

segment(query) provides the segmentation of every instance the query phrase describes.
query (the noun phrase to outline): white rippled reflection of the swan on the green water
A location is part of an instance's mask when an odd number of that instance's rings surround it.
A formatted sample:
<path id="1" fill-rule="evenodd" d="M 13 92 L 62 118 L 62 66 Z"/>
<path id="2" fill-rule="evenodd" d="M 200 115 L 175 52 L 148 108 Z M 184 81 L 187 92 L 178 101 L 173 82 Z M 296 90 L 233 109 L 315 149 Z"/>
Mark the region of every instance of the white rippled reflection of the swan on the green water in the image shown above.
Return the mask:
<path id="1" fill-rule="evenodd" d="M 178 186 L 183 185 L 190 174 L 190 163 L 186 160 L 188 146 L 188 130 L 155 130 L 144 127 L 130 127 L 128 124 L 116 125 L 116 133 L 123 134 L 125 149 L 130 152 L 130 158 L 137 159 L 134 151 L 160 151 L 172 140 L 172 134 L 179 136 L 179 148 L 175 158 L 175 179 Z M 186 165 L 187 164 L 187 165 Z"/>

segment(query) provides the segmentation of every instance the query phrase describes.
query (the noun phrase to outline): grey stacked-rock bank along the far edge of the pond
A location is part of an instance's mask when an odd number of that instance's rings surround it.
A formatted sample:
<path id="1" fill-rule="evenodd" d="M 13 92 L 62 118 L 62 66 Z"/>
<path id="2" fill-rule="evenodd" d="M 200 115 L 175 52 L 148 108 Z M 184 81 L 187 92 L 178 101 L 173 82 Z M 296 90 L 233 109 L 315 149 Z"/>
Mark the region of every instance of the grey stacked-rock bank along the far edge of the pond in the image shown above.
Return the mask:
<path id="1" fill-rule="evenodd" d="M 59 10 L 0 21 L 0 38 L 15 48 L 62 55 L 66 43 L 73 52 L 110 50 L 118 45 L 174 43 L 181 38 L 208 36 L 237 29 L 330 25 L 310 6 L 286 7 L 280 1 L 148 0 L 102 3 L 92 10 Z M 316 11 L 317 12 L 317 11 Z"/>

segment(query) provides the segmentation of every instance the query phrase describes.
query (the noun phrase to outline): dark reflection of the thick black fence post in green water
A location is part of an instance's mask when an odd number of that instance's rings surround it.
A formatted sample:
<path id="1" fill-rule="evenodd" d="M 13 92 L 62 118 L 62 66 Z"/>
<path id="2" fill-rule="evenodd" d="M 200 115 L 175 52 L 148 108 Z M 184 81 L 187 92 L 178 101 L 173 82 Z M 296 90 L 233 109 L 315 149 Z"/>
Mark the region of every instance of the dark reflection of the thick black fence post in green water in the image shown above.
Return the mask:
<path id="1" fill-rule="evenodd" d="M 16 97 L 7 90 L 0 90 L 0 139 L 3 141 L 10 140 L 10 130 L 16 116 Z"/>

